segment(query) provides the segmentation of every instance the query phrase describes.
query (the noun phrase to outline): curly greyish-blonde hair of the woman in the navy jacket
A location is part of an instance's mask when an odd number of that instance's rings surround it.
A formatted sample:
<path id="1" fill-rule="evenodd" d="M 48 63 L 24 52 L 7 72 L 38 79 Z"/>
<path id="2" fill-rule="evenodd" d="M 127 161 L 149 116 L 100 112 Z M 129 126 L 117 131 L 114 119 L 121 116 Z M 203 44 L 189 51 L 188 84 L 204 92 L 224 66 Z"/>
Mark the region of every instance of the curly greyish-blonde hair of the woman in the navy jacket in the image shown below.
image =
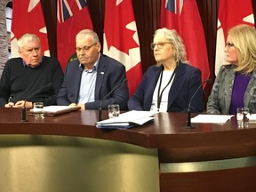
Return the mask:
<path id="1" fill-rule="evenodd" d="M 154 37 L 157 34 L 163 34 L 168 41 L 172 44 L 172 49 L 174 50 L 174 58 L 176 62 L 183 62 L 183 63 L 189 63 L 187 60 L 187 53 L 185 50 L 185 45 L 183 44 L 182 39 L 178 35 L 177 31 L 175 29 L 168 29 L 168 28 L 159 28 L 156 29 Z"/>

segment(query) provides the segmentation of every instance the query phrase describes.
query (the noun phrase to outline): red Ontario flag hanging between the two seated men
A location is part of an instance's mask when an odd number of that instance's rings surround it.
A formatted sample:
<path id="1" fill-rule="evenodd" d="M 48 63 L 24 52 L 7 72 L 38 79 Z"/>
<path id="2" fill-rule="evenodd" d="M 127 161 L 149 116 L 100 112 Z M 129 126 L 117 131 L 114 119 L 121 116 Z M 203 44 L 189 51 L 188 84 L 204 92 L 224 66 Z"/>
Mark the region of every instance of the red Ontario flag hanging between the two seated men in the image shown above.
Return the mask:
<path id="1" fill-rule="evenodd" d="M 92 20 L 86 0 L 58 0 L 57 9 L 57 56 L 64 69 L 76 58 L 76 34 L 92 29 Z"/>

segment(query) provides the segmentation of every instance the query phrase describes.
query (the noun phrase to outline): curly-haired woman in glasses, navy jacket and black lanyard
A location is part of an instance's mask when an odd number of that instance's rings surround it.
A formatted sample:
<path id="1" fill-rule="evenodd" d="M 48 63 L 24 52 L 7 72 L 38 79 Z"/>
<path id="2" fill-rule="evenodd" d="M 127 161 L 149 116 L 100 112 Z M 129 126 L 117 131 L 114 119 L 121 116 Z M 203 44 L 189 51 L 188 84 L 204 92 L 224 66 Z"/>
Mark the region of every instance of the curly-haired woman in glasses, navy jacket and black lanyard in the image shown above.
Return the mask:
<path id="1" fill-rule="evenodd" d="M 189 100 L 202 84 L 201 71 L 188 64 L 184 44 L 174 29 L 157 29 L 151 48 L 156 65 L 144 74 L 128 101 L 129 110 L 186 112 Z M 199 112 L 202 108 L 203 90 L 200 87 L 190 109 Z"/>

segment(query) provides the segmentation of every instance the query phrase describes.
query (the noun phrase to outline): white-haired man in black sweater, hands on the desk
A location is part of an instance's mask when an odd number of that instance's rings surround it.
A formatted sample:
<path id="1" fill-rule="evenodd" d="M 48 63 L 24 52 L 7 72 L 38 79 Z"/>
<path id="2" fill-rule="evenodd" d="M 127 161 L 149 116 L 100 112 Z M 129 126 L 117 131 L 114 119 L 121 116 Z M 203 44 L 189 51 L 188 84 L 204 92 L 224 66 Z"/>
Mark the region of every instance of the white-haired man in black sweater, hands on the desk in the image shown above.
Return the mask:
<path id="1" fill-rule="evenodd" d="M 63 81 L 60 62 L 43 56 L 41 42 L 34 34 L 18 40 L 19 58 L 7 60 L 0 79 L 0 107 L 32 108 L 36 101 L 56 105 Z M 26 101 L 25 101 L 26 100 Z"/>

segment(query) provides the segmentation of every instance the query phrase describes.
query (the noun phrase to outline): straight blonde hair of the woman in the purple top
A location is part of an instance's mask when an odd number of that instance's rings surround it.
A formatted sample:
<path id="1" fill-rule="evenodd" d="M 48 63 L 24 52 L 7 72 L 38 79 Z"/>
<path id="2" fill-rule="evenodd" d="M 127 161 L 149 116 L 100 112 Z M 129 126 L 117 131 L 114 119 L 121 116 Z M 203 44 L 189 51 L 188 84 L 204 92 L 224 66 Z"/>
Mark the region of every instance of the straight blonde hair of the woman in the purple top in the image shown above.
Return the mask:
<path id="1" fill-rule="evenodd" d="M 236 47 L 238 66 L 236 71 L 246 75 L 256 68 L 256 30 L 241 24 L 228 30 L 228 35 Z"/>

